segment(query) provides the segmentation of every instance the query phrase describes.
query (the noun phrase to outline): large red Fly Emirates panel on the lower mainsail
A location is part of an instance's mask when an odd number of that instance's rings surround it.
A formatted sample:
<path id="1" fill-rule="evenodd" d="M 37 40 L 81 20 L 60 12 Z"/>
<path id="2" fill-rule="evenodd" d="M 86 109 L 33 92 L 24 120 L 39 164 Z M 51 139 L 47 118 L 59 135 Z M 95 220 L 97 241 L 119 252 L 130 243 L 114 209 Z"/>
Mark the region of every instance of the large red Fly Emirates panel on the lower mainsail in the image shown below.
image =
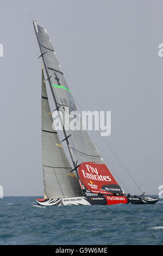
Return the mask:
<path id="1" fill-rule="evenodd" d="M 96 162 L 85 162 L 79 166 L 80 179 L 90 191 L 102 190 L 104 185 L 118 185 L 108 167 Z"/>

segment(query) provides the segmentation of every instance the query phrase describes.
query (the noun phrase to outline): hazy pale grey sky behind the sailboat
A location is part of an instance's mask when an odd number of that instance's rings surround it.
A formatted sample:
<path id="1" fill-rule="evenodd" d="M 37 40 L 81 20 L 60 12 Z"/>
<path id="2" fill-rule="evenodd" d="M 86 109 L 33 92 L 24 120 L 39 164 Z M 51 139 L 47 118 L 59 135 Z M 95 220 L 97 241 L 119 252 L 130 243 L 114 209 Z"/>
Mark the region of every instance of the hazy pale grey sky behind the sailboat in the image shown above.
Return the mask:
<path id="1" fill-rule="evenodd" d="M 158 56 L 163 2 L 1 0 L 0 7 L 4 196 L 43 195 L 41 67 L 29 12 L 47 29 L 74 98 L 84 110 L 111 111 L 106 142 L 139 186 L 158 194 L 163 184 L 163 58 Z M 130 192 L 139 193 L 103 140 L 96 132 L 91 137 Z"/>

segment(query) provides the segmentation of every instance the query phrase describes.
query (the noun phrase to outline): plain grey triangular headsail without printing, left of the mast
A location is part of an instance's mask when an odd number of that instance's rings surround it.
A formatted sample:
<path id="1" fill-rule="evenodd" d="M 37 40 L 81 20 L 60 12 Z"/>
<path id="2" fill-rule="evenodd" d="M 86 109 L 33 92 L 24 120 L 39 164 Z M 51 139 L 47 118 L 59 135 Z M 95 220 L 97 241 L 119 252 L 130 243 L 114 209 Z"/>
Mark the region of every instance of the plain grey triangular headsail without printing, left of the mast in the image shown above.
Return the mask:
<path id="1" fill-rule="evenodd" d="M 42 69 L 42 164 L 44 198 L 82 196 L 78 179 L 62 148 L 57 131 L 52 128 L 46 83 Z"/>

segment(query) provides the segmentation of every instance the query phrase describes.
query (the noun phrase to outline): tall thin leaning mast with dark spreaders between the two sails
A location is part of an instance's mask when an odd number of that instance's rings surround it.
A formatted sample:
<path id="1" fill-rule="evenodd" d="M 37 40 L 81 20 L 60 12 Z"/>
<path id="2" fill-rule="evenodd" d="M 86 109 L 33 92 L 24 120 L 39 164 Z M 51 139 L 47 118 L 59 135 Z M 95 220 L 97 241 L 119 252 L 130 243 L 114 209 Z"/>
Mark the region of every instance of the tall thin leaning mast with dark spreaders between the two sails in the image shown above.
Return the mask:
<path id="1" fill-rule="evenodd" d="M 59 113 L 59 106 L 58 106 L 58 103 L 57 103 L 55 94 L 54 94 L 54 92 L 53 92 L 53 88 L 52 88 L 52 84 L 51 84 L 51 80 L 50 80 L 51 77 L 49 77 L 48 70 L 47 70 L 47 66 L 46 66 L 46 63 L 45 63 L 44 56 L 43 56 L 44 54 L 46 54 L 46 52 L 44 52 L 44 53 L 42 52 L 42 49 L 41 49 L 41 46 L 40 46 L 40 42 L 39 42 L 39 38 L 38 38 L 38 36 L 37 36 L 37 32 L 36 32 L 35 22 L 34 22 L 34 21 L 33 21 L 33 26 L 34 26 L 34 31 L 35 31 L 35 34 L 36 34 L 37 42 L 38 42 L 38 44 L 39 44 L 40 52 L 41 52 L 40 57 L 42 57 L 43 66 L 44 66 L 45 71 L 46 71 L 47 80 L 48 80 L 49 87 L 50 87 L 50 89 L 51 89 L 51 93 L 52 93 L 52 96 L 53 96 L 53 100 L 54 100 L 54 103 L 55 103 L 55 106 L 56 106 L 56 109 L 55 109 L 55 110 L 57 110 L 58 113 Z M 40 57 L 39 57 L 39 58 L 40 58 Z M 61 121 L 61 123 L 62 123 L 62 119 L 61 119 L 60 113 L 59 113 L 59 118 L 60 118 L 60 121 Z M 78 180 L 79 180 L 80 178 L 79 178 L 79 174 L 78 174 L 78 171 L 77 171 L 77 168 L 78 168 L 79 166 L 76 166 L 76 163 L 74 162 L 73 155 L 72 155 L 72 153 L 71 153 L 71 149 L 70 149 L 70 147 L 69 147 L 69 142 L 68 142 L 68 137 L 69 137 L 69 136 L 66 135 L 66 131 L 65 131 L 65 127 L 64 127 L 64 124 L 63 124 L 63 123 L 62 123 L 62 127 L 63 127 L 64 136 L 65 136 L 65 139 L 64 139 L 64 140 L 66 141 L 67 148 L 68 148 L 68 152 L 69 152 L 69 154 L 70 154 L 71 161 L 72 161 L 72 163 L 73 163 L 73 168 L 74 168 L 73 170 L 75 170 L 76 175 L 77 175 L 77 178 L 78 178 Z M 72 172 L 72 171 L 71 171 L 71 172 Z M 83 196 L 85 196 L 85 193 L 84 193 L 84 190 L 83 190 L 83 189 L 82 189 L 82 193 L 83 193 Z"/>

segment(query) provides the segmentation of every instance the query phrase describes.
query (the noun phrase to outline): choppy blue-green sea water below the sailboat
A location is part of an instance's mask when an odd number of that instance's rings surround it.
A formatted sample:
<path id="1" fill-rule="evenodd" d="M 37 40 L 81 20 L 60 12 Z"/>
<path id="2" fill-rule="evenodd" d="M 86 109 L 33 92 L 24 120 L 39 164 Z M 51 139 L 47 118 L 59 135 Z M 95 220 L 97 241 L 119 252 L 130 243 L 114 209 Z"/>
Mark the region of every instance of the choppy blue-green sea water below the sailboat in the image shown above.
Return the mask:
<path id="1" fill-rule="evenodd" d="M 0 245 L 163 245 L 163 199 L 153 205 L 39 206 L 0 199 Z"/>

